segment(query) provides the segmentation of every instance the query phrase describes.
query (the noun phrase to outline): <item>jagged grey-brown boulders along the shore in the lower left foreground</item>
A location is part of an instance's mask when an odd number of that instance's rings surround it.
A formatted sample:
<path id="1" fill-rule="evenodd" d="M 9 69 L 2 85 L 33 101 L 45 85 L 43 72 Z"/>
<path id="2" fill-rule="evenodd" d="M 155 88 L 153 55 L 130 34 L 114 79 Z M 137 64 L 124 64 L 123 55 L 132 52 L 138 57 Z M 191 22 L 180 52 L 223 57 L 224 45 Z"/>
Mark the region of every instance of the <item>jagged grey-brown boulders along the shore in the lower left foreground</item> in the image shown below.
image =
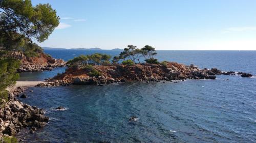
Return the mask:
<path id="1" fill-rule="evenodd" d="M 0 138 L 3 135 L 13 136 L 24 128 L 34 132 L 49 121 L 42 109 L 16 100 L 16 96 L 22 92 L 24 92 L 22 88 L 14 89 L 9 93 L 9 102 L 3 103 L 0 108 Z"/>

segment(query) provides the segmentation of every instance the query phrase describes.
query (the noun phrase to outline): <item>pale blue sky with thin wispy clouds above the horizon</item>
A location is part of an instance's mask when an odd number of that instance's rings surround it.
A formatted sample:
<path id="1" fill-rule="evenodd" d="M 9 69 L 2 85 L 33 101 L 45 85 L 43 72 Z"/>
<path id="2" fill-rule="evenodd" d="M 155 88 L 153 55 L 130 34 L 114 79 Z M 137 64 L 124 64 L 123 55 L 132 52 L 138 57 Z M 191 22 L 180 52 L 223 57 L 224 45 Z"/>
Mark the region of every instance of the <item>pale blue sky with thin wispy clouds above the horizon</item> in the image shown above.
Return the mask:
<path id="1" fill-rule="evenodd" d="M 60 24 L 40 46 L 256 50 L 255 0 L 32 0 Z"/>

